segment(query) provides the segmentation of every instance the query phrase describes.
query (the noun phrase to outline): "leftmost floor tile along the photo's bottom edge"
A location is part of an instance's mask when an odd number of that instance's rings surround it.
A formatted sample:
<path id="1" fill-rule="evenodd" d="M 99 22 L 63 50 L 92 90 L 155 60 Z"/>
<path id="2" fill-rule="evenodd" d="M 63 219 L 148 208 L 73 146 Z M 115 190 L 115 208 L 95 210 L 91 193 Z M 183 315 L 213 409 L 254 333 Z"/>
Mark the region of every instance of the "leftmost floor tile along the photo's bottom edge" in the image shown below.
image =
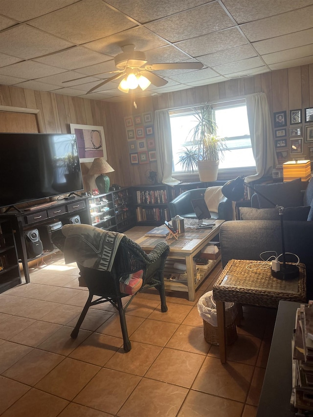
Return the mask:
<path id="1" fill-rule="evenodd" d="M 68 401 L 63 398 L 31 388 L 1 417 L 56 417 L 67 404 Z"/>

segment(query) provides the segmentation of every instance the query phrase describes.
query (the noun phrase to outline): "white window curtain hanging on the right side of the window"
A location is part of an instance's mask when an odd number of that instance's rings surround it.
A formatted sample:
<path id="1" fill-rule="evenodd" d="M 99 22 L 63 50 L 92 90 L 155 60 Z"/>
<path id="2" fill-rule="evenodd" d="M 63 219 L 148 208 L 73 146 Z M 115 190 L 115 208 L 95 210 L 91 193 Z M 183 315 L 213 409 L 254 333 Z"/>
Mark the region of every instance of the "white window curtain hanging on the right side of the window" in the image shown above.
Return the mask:
<path id="1" fill-rule="evenodd" d="M 272 170 L 276 167 L 278 161 L 266 94 L 247 95 L 246 110 L 256 165 L 256 174 L 245 178 L 246 182 L 251 182 L 262 176 L 272 176 Z"/>

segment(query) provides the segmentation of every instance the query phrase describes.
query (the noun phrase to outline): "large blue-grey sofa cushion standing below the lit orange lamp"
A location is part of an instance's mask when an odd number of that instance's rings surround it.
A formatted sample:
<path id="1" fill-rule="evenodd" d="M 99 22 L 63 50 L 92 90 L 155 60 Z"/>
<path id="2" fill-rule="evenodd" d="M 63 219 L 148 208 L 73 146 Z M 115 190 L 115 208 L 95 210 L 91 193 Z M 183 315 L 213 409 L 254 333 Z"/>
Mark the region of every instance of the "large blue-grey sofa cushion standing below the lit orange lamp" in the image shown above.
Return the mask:
<path id="1" fill-rule="evenodd" d="M 275 205 L 299 207 L 303 203 L 301 178 L 274 184 L 256 184 L 255 190 L 267 197 Z M 258 194 L 259 208 L 273 208 L 273 205 Z"/>

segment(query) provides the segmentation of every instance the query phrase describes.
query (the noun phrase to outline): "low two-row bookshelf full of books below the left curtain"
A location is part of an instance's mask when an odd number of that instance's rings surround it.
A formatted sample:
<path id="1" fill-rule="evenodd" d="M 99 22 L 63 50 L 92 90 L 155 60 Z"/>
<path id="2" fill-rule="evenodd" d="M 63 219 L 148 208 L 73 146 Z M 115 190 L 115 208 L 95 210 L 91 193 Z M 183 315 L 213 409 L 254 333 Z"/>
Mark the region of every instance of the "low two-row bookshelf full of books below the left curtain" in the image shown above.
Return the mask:
<path id="1" fill-rule="evenodd" d="M 167 185 L 139 185 L 133 187 L 137 225 L 160 225 L 170 220 L 171 201 Z"/>

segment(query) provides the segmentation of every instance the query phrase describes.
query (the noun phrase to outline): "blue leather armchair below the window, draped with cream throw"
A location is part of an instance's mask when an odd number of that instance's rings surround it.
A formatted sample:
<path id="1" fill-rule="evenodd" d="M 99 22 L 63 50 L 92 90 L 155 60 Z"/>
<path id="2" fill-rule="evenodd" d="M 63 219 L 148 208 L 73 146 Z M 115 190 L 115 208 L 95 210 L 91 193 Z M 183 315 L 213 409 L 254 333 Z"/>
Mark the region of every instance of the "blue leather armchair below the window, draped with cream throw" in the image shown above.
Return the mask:
<path id="1" fill-rule="evenodd" d="M 207 201 L 205 193 L 207 194 L 212 188 L 216 187 L 196 188 L 194 190 L 188 190 L 181 193 L 169 203 L 171 217 L 179 215 L 187 219 L 197 219 L 191 200 L 205 198 Z M 217 210 L 213 211 L 210 207 L 209 210 L 212 219 L 231 220 L 233 218 L 232 202 L 224 196 L 220 198 Z"/>

